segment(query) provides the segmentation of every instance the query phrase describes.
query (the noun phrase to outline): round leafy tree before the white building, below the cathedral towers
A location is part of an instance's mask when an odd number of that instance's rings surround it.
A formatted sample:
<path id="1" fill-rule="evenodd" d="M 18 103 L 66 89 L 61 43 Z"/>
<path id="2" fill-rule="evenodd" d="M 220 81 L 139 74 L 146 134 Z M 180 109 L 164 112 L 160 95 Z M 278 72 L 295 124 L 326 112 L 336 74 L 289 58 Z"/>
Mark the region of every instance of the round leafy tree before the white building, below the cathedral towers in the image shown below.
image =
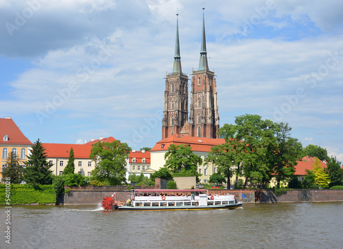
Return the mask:
<path id="1" fill-rule="evenodd" d="M 169 168 L 171 172 L 190 172 L 196 176 L 196 181 L 199 181 L 198 166 L 202 164 L 202 159 L 193 153 L 190 146 L 171 144 L 165 153 L 165 159 L 165 167 Z"/>

